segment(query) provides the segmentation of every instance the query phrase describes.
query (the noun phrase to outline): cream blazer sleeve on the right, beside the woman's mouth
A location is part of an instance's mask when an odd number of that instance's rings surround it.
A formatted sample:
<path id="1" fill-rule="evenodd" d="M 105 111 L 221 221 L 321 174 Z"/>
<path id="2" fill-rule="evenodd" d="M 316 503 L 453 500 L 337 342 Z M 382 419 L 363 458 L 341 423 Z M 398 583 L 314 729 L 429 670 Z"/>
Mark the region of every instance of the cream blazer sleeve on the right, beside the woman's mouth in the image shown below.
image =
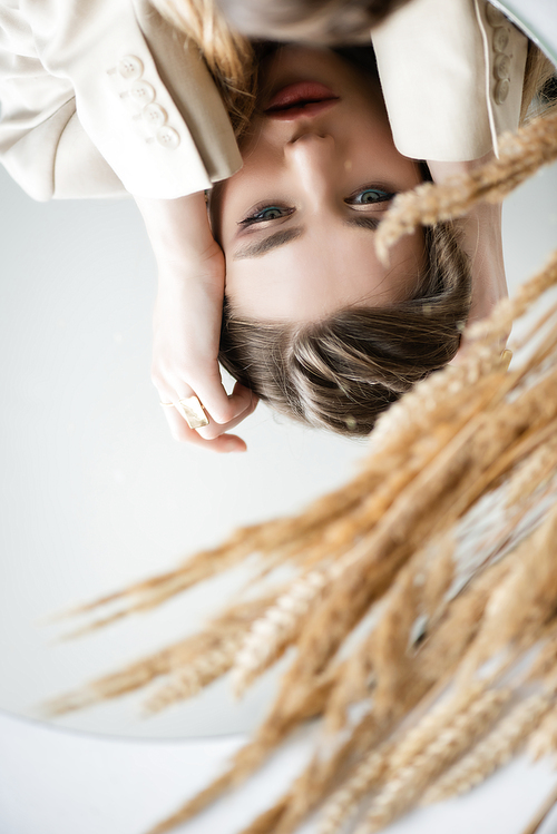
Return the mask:
<path id="1" fill-rule="evenodd" d="M 517 129 L 528 40 L 486 0 L 412 0 L 371 38 L 404 156 L 477 159 Z"/>

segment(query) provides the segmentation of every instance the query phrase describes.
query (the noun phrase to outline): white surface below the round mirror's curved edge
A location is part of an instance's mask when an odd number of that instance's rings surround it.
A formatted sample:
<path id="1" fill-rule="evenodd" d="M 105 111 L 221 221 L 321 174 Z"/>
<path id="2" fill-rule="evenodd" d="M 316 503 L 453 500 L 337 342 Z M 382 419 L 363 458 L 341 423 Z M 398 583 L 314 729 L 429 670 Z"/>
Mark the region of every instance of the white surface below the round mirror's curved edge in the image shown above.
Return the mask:
<path id="1" fill-rule="evenodd" d="M 207 784 L 240 744 L 114 740 L 0 714 L 0 834 L 141 834 Z M 301 734 L 243 791 L 176 834 L 241 831 L 286 787 L 305 749 Z M 522 834 L 556 784 L 547 764 L 517 759 L 468 796 L 419 810 L 385 832 Z M 315 821 L 299 832 L 316 834 Z M 539 834 L 556 832 L 553 816 Z"/>

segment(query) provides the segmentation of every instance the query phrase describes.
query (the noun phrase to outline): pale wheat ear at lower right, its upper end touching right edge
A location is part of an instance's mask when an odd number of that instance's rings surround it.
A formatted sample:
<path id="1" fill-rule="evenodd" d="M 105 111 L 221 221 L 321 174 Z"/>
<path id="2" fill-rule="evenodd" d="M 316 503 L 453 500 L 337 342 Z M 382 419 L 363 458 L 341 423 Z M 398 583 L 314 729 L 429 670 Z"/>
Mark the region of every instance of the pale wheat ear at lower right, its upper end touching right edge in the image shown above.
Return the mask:
<path id="1" fill-rule="evenodd" d="M 468 755 L 432 785 L 423 803 L 442 802 L 483 782 L 515 755 L 554 700 L 553 694 L 540 693 L 518 704 Z M 556 728 L 554 715 L 554 732 Z"/>

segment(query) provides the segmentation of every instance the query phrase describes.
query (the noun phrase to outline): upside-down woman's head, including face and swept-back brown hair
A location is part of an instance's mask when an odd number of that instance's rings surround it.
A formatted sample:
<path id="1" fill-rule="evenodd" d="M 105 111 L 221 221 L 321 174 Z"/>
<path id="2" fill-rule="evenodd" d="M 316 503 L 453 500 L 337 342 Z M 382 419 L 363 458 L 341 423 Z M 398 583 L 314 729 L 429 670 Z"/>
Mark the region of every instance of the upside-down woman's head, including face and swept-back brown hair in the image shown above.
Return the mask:
<path id="1" fill-rule="evenodd" d="M 223 364 L 274 408 L 348 434 L 369 433 L 380 411 L 455 356 L 470 308 L 452 227 L 402 238 L 388 264 L 375 254 L 392 197 L 428 171 L 394 147 L 362 57 L 275 51 L 241 143 L 244 166 L 212 199 L 226 255 Z M 500 216 L 489 214 L 499 294 Z"/>

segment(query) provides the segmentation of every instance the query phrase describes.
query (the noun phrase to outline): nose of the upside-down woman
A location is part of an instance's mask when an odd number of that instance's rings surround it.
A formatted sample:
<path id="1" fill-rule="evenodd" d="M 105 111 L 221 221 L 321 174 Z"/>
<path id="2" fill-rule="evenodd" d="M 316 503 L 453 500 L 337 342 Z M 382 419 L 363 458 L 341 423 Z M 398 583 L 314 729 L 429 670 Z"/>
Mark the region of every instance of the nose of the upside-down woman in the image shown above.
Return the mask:
<path id="1" fill-rule="evenodd" d="M 321 206 L 334 194 L 339 161 L 332 136 L 302 133 L 286 144 L 284 154 L 309 205 Z"/>

